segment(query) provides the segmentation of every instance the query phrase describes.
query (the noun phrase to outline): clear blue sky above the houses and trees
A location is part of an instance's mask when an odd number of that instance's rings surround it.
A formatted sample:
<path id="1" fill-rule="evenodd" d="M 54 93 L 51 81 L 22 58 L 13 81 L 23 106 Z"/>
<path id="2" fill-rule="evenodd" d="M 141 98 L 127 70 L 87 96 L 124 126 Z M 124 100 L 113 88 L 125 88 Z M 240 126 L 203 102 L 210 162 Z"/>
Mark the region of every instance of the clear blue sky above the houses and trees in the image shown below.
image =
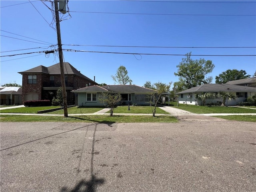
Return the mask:
<path id="1" fill-rule="evenodd" d="M 51 3 L 30 1 L 0 1 L 1 56 L 51 50 L 49 46 L 57 44 L 56 31 L 49 26 L 53 20 Z M 69 0 L 68 8 L 71 18 L 68 14 L 60 15 L 64 18 L 60 22 L 62 44 L 94 46 L 63 45 L 63 49 L 181 55 L 63 52 L 65 62 L 92 80 L 95 76 L 99 84 L 114 84 L 111 75 L 116 74 L 120 65 L 126 67 L 132 84 L 138 86 L 146 81 L 176 82 L 176 66 L 188 52 L 192 55 L 256 55 L 256 1 Z M 209 74 L 213 76 L 213 83 L 215 76 L 228 69 L 245 70 L 250 75 L 256 71 L 256 56 L 192 56 L 192 59 L 200 58 L 212 60 L 215 65 Z M 18 72 L 39 65 L 51 66 L 58 63 L 59 58 L 57 54 L 34 53 L 1 57 L 0 61 L 0 84 L 22 84 L 22 75 Z"/>

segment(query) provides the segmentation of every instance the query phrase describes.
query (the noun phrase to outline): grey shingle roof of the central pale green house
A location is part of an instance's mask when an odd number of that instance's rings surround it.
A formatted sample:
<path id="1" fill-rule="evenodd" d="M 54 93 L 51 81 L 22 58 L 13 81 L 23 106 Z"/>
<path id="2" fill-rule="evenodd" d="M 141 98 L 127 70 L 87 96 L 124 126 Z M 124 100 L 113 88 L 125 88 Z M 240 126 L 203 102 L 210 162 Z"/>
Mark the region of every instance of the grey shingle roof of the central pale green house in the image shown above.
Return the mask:
<path id="1" fill-rule="evenodd" d="M 155 93 L 156 90 L 140 87 L 137 85 L 106 85 L 106 86 L 88 86 L 72 92 L 113 92 L 113 93 Z"/>

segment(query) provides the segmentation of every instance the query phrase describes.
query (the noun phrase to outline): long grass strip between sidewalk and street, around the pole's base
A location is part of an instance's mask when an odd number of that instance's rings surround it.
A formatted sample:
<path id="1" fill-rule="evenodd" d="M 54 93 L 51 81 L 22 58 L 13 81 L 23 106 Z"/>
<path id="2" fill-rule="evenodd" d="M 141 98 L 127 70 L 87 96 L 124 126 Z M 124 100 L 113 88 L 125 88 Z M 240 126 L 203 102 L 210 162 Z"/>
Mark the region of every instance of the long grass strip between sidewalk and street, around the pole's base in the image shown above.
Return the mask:
<path id="1" fill-rule="evenodd" d="M 173 123 L 178 120 L 173 116 L 110 116 L 110 115 L 81 115 L 81 116 L 24 116 L 1 115 L 1 122 L 95 122 L 95 123 L 144 123 L 166 122 Z"/>

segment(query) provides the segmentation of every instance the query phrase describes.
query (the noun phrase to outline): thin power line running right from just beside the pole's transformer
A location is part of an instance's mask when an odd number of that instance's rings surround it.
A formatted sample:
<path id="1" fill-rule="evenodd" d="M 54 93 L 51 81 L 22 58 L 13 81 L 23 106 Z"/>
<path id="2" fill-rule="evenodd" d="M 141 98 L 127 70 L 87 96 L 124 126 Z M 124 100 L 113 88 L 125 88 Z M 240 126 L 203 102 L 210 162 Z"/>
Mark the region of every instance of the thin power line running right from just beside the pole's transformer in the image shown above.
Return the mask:
<path id="1" fill-rule="evenodd" d="M 219 14 L 159 14 L 159 13 L 121 13 L 121 12 L 86 12 L 69 11 L 77 13 L 99 13 L 99 14 L 130 14 L 130 15 L 172 15 L 172 16 L 256 16 L 256 15 L 219 15 Z"/>

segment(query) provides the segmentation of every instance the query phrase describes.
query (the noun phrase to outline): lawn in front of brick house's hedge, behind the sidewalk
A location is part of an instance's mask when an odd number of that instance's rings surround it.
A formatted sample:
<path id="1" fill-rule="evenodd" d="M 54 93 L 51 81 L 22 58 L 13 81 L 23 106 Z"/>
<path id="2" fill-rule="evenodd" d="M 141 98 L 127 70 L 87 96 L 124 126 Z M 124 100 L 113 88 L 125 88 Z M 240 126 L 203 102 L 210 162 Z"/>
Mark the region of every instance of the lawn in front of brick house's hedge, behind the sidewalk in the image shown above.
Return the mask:
<path id="1" fill-rule="evenodd" d="M 14 109 L 1 109 L 0 113 L 37 113 L 40 110 L 54 109 L 59 106 L 46 106 L 46 107 L 20 107 Z"/>

